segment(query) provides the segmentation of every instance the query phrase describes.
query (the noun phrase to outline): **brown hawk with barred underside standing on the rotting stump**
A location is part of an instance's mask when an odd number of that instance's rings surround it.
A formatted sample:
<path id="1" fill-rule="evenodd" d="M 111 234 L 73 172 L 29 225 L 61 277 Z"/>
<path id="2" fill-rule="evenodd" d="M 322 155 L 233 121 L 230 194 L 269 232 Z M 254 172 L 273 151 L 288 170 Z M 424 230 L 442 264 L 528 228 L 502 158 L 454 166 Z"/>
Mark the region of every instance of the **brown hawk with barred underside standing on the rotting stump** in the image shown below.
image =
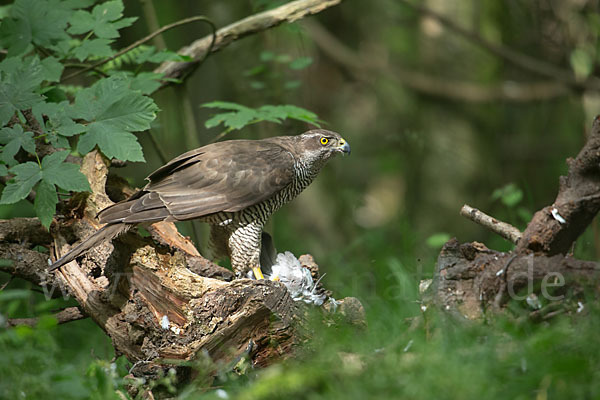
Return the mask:
<path id="1" fill-rule="evenodd" d="M 334 155 L 350 153 L 338 133 L 314 129 L 297 136 L 229 140 L 188 151 L 160 167 L 148 184 L 98 214 L 104 227 L 50 270 L 137 224 L 198 219 L 210 224 L 211 244 L 243 276 L 260 269 L 261 234 L 268 218 L 296 197 Z"/>

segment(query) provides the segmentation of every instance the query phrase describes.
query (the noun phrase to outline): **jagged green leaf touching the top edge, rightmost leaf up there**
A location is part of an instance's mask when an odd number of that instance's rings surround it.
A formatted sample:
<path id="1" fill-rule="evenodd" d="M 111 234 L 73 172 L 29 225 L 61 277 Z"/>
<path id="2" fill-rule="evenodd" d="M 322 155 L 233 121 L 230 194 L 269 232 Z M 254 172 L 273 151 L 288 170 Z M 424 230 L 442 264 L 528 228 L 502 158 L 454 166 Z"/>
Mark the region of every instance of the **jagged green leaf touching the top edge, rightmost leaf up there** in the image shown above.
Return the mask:
<path id="1" fill-rule="evenodd" d="M 103 39 L 114 39 L 119 37 L 118 30 L 130 26 L 137 18 L 123 18 L 123 2 L 107 1 L 94 7 L 91 13 L 87 11 L 75 12 L 69 20 L 71 34 L 83 34 L 93 31 L 94 34 Z"/>

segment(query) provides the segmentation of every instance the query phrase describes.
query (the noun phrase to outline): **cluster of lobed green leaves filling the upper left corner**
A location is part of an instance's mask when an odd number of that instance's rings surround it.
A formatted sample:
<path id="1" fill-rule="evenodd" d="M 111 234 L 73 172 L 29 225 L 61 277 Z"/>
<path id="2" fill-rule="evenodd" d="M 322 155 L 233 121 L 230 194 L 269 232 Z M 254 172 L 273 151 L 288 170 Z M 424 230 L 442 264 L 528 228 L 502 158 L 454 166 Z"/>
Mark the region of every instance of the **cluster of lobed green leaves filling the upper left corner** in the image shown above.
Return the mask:
<path id="1" fill-rule="evenodd" d="M 147 94 L 162 75 L 140 65 L 182 59 L 144 46 L 105 63 L 89 87 L 65 85 L 66 68 L 89 68 L 91 61 L 115 55 L 119 30 L 137 19 L 123 16 L 122 0 L 93 4 L 17 0 L 0 23 L 6 50 L 0 62 L 0 176 L 7 182 L 0 204 L 34 190 L 44 226 L 52 221 L 58 190 L 90 190 L 79 166 L 66 161 L 69 154 L 98 148 L 109 158 L 144 161 L 133 133 L 156 118 L 158 107 Z M 136 71 L 121 69 L 131 63 Z"/>

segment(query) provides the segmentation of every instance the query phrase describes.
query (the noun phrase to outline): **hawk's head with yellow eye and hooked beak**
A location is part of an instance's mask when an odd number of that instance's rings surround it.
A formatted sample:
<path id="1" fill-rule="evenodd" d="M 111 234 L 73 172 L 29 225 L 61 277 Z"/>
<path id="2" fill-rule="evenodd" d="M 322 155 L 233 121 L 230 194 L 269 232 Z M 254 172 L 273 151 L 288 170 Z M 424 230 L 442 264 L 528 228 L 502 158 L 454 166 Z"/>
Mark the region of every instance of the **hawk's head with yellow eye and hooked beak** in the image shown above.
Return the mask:
<path id="1" fill-rule="evenodd" d="M 304 160 L 327 161 L 336 154 L 350 154 L 350 144 L 339 133 L 313 129 L 296 136 Z"/>

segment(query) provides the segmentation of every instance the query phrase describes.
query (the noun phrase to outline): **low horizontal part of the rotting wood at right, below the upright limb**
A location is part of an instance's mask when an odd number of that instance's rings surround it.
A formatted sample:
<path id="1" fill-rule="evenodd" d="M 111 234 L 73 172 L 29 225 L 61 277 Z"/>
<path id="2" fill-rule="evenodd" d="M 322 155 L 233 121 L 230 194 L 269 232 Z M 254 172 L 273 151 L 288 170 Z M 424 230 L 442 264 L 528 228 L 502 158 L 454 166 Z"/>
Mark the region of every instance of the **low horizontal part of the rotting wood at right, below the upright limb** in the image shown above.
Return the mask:
<path id="1" fill-rule="evenodd" d="M 440 252 L 430 295 L 442 309 L 478 319 L 488 309 L 498 311 L 510 299 L 563 300 L 567 291 L 577 292 L 575 289 L 581 290 L 598 278 L 597 262 L 560 254 L 502 253 L 481 243 L 460 244 L 452 239 Z M 534 311 L 538 306 L 531 308 Z"/>

